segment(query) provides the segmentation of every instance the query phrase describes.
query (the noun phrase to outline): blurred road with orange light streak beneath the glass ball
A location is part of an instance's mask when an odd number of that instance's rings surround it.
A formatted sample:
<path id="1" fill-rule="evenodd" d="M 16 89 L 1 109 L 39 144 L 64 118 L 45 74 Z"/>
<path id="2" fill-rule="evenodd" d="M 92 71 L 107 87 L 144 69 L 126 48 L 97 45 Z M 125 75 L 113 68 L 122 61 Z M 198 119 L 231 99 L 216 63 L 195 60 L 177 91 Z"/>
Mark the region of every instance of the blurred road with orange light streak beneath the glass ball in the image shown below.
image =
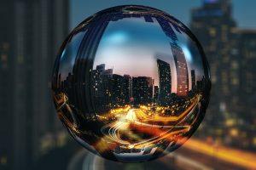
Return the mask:
<path id="1" fill-rule="evenodd" d="M 201 150 L 199 150 L 199 148 Z M 211 149 L 212 152 L 207 152 L 206 148 L 208 148 L 208 150 Z M 225 154 L 224 157 L 223 154 Z M 239 154 L 241 155 L 239 156 Z M 183 144 L 183 147 L 172 152 L 172 154 L 143 163 L 108 161 L 91 154 L 87 150 L 80 150 L 69 162 L 67 170 L 256 169 L 255 161 L 251 160 L 255 158 L 255 156 L 253 156 L 254 155 L 251 153 L 240 153 L 239 150 L 231 150 L 224 147 L 217 148 L 216 146 L 208 145 L 199 140 L 189 139 L 186 144 Z"/>

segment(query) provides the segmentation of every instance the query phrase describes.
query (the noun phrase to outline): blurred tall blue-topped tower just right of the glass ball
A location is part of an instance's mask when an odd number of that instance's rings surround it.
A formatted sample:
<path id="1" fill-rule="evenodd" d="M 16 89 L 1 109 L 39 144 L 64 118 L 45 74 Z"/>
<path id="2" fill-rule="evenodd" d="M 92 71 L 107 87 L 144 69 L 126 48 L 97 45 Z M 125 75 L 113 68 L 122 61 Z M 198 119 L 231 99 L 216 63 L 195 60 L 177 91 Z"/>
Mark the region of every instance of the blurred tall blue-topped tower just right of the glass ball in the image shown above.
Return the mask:
<path id="1" fill-rule="evenodd" d="M 214 134 L 225 135 L 223 129 L 227 117 L 235 111 L 230 100 L 237 97 L 237 91 L 232 92 L 230 66 L 236 62 L 231 57 L 232 29 L 236 22 L 231 15 L 231 3 L 227 0 L 205 0 L 200 8 L 192 10 L 190 28 L 201 42 L 210 63 L 212 76 L 212 96 L 208 108 L 206 122 L 216 126 Z M 229 105 L 228 105 L 229 104 Z M 217 120 L 218 121 L 214 121 Z M 213 132 L 213 131 L 212 131 Z"/>

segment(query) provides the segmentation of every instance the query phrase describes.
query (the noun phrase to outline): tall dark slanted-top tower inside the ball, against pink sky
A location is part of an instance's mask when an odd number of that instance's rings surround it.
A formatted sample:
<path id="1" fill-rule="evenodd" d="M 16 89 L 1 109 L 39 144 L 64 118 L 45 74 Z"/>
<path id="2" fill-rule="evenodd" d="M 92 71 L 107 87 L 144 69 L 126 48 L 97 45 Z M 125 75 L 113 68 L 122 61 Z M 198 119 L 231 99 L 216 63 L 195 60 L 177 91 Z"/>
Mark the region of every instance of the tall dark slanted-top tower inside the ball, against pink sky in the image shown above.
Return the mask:
<path id="1" fill-rule="evenodd" d="M 161 59 L 157 59 L 159 76 L 159 94 L 160 105 L 168 105 L 172 93 L 172 74 L 170 64 Z"/>

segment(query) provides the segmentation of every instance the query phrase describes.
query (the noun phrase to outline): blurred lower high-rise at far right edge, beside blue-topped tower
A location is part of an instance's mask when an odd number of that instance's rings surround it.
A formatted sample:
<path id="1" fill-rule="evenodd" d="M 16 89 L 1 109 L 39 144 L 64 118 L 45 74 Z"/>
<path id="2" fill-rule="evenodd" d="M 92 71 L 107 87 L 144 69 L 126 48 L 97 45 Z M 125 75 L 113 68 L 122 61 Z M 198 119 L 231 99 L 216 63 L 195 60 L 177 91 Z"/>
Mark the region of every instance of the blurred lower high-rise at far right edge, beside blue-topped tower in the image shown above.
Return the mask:
<path id="1" fill-rule="evenodd" d="M 236 127 L 244 135 L 240 137 L 237 144 L 241 144 L 250 150 L 256 150 L 255 137 L 255 99 L 256 99 L 256 31 L 255 30 L 234 30 L 236 34 L 236 47 L 233 54 L 238 55 L 239 62 L 232 61 L 231 83 L 238 86 L 236 93 L 239 98 L 231 98 L 230 102 L 235 103 L 235 109 L 239 110 L 236 119 L 239 120 Z M 236 96 L 237 96 L 236 94 Z M 250 126 L 248 126 L 250 125 Z"/>

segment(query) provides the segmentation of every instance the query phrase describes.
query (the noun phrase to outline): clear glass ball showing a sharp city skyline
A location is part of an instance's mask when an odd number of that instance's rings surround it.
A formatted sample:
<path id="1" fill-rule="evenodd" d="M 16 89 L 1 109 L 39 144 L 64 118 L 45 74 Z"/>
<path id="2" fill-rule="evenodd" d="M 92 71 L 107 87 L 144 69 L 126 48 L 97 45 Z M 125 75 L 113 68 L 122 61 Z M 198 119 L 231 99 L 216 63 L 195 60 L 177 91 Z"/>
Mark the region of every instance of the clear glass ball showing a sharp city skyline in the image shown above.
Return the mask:
<path id="1" fill-rule="evenodd" d="M 80 144 L 113 161 L 148 161 L 177 149 L 199 126 L 210 76 L 195 36 L 155 8 L 119 6 L 84 20 L 55 61 L 61 122 Z"/>

